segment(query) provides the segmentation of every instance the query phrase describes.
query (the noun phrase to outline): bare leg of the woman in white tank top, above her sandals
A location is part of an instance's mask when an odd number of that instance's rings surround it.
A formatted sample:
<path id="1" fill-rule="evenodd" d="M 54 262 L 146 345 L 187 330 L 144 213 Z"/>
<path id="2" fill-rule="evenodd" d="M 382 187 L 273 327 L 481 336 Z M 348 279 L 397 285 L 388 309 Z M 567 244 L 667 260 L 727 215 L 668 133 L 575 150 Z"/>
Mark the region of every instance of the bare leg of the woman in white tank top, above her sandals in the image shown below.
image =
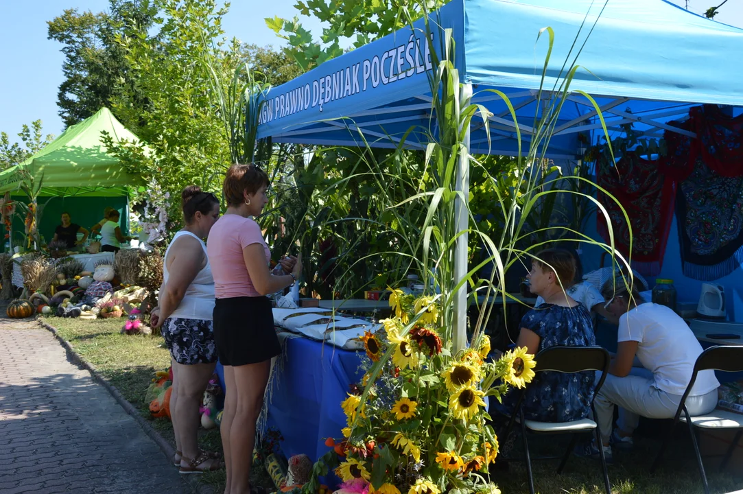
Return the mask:
<path id="1" fill-rule="evenodd" d="M 186 458 L 194 460 L 198 457 L 197 433 L 201 423 L 198 406 L 214 373 L 215 364 L 175 365 L 178 366 L 178 404 L 172 411 L 172 416 L 178 423 L 178 435 L 181 439 L 181 452 L 184 458 L 181 465 L 186 467 L 188 465 Z M 204 464 L 205 467 L 209 465 Z"/>

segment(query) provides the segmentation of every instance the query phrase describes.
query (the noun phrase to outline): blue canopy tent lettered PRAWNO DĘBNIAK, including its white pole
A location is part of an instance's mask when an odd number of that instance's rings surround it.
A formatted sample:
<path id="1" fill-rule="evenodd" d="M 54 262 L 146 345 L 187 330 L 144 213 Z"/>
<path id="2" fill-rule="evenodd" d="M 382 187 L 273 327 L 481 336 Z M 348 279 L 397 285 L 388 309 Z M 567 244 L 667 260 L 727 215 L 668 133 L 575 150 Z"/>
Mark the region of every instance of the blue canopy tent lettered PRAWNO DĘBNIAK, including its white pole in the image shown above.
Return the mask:
<path id="1" fill-rule="evenodd" d="M 692 105 L 712 103 L 743 107 L 743 30 L 722 25 L 663 0 L 452 0 L 432 14 L 436 41 L 452 29 L 455 66 L 465 97 L 485 105 L 491 142 L 473 119 L 467 143 L 472 154 L 516 155 L 515 125 L 507 106 L 489 88 L 510 98 L 516 109 L 522 144 L 533 134 L 537 92 L 548 42 L 536 41 L 543 27 L 555 33 L 545 89 L 564 77 L 571 46 L 585 46 L 571 91 L 594 97 L 612 132 L 635 124 L 647 137 L 663 131 L 688 131 L 668 124 Z M 598 20 L 597 20 L 598 19 Z M 591 26 L 596 23 L 588 36 Z M 585 24 L 584 24 L 585 23 Z M 581 27 L 583 25 L 583 27 Z M 396 147 L 412 126 L 428 128 L 431 93 L 426 71 L 432 69 L 424 23 L 405 28 L 273 88 L 259 118 L 259 138 L 276 143 Z M 571 56 L 574 56 L 575 50 Z M 568 60 L 568 66 L 572 60 Z M 545 97 L 556 94 L 542 93 Z M 737 110 L 736 110 L 737 111 Z M 591 102 L 571 94 L 559 115 L 546 155 L 577 159 L 577 135 L 601 129 Z M 338 120 L 341 117 L 343 120 Z M 435 116 L 434 116 L 435 117 Z M 435 122 L 435 118 L 434 118 Z M 424 149 L 426 134 L 415 131 L 405 145 Z M 467 189 L 467 163 L 460 163 L 458 187 Z M 467 195 L 465 195 L 466 197 Z M 467 227 L 461 208 L 459 230 Z M 457 279 L 467 273 L 467 238 L 458 241 Z M 464 344 L 464 289 L 458 293 L 458 338 Z"/>

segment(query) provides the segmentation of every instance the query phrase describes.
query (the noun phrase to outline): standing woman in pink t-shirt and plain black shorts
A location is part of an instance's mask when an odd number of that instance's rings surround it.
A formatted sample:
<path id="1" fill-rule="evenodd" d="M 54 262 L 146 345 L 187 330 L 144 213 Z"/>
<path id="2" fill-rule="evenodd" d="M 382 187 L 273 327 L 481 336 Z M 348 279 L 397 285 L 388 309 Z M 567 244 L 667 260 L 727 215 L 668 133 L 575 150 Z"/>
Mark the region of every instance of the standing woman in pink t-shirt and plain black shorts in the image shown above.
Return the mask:
<path id="1" fill-rule="evenodd" d="M 258 166 L 230 166 L 223 186 L 227 211 L 207 241 L 216 296 L 214 339 L 227 387 L 220 432 L 227 467 L 225 493 L 230 494 L 250 492 L 256 422 L 270 359 L 281 351 L 266 295 L 291 286 L 302 272 L 302 263 L 293 257 L 281 261 L 291 274 L 275 276 L 268 269 L 270 251 L 250 218 L 260 215 L 267 204 L 267 189 L 268 175 Z"/>

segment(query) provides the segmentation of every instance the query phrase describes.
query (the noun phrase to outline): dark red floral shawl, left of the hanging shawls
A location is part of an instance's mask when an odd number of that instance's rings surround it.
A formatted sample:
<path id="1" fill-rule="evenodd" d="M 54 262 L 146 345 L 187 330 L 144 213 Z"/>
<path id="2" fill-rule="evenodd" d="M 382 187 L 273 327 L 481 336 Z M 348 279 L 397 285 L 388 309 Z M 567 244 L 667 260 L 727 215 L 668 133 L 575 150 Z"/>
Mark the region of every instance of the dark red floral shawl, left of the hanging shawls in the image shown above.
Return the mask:
<path id="1" fill-rule="evenodd" d="M 666 179 L 658 161 L 645 160 L 632 152 L 626 153 L 616 166 L 611 166 L 603 156 L 597 165 L 598 184 L 617 198 L 629 216 L 632 267 L 643 276 L 658 275 L 673 219 L 673 181 Z M 609 213 L 615 247 L 628 256 L 630 230 L 622 210 L 600 192 L 598 199 Z M 598 231 L 609 242 L 606 221 L 602 214 L 597 218 Z"/>

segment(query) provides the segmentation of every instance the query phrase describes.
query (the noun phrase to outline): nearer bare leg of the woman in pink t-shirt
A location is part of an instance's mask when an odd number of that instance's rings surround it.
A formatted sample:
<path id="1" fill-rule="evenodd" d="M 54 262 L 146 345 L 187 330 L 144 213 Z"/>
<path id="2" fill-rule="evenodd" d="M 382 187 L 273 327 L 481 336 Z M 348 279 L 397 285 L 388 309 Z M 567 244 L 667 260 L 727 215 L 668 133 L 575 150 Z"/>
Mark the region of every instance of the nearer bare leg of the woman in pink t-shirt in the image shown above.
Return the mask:
<path id="1" fill-rule="evenodd" d="M 230 426 L 233 467 L 230 494 L 250 493 L 250 465 L 256 442 L 256 423 L 263 407 L 270 368 L 270 360 L 233 368 L 238 391 L 235 417 Z"/>

